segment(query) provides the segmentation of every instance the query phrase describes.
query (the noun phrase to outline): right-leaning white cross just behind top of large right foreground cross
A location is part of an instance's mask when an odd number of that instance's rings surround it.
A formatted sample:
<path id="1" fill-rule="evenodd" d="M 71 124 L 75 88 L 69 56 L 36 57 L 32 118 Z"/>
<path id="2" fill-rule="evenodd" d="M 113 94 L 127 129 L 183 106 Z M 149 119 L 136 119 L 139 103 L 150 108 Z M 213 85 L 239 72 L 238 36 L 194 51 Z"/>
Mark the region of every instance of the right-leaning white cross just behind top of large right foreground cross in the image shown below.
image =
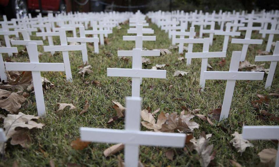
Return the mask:
<path id="1" fill-rule="evenodd" d="M 242 27 L 239 27 L 242 28 Z M 243 44 L 242 51 L 241 51 L 241 58 L 240 61 L 245 61 L 245 57 L 247 54 L 249 44 L 262 44 L 262 39 L 251 39 L 252 28 L 247 28 L 245 38 L 244 39 L 232 39 L 231 43 L 240 43 Z"/>

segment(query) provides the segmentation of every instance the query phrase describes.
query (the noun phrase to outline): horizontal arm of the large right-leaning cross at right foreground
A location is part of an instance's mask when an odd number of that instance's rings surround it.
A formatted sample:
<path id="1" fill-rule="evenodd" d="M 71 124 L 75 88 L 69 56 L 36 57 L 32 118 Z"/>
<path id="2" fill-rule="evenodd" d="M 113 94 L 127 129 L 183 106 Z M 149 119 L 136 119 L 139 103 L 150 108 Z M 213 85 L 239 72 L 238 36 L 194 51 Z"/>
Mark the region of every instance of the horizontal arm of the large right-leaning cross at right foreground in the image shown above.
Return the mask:
<path id="1" fill-rule="evenodd" d="M 264 72 L 204 71 L 204 79 L 262 80 Z"/>

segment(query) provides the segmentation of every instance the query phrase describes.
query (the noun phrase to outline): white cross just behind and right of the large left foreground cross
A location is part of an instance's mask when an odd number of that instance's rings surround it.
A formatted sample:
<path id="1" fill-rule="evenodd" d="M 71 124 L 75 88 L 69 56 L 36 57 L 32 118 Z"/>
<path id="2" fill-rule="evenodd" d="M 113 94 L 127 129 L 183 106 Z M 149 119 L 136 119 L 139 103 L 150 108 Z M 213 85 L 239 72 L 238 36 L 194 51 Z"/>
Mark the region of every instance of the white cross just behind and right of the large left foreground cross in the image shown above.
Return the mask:
<path id="1" fill-rule="evenodd" d="M 69 51 L 77 51 L 77 50 L 85 50 L 85 45 L 67 45 L 67 38 L 66 38 L 66 32 L 65 31 L 59 31 L 60 36 L 60 43 L 61 45 L 55 45 L 55 46 L 44 46 L 45 52 L 58 52 L 62 51 L 63 55 L 63 61 L 65 65 L 65 73 L 66 73 L 66 79 L 67 81 L 72 82 L 72 72 L 71 72 L 71 65 L 70 65 L 70 59 L 69 59 Z"/>

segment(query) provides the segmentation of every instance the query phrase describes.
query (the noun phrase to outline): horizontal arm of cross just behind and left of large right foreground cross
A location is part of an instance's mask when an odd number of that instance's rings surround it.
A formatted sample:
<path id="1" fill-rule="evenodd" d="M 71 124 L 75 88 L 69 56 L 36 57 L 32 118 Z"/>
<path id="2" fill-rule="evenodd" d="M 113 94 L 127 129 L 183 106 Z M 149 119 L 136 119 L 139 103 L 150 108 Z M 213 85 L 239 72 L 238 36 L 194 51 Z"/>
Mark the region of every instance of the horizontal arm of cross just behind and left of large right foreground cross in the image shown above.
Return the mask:
<path id="1" fill-rule="evenodd" d="M 185 58 L 216 58 L 226 57 L 226 52 L 191 52 L 185 53 Z"/>

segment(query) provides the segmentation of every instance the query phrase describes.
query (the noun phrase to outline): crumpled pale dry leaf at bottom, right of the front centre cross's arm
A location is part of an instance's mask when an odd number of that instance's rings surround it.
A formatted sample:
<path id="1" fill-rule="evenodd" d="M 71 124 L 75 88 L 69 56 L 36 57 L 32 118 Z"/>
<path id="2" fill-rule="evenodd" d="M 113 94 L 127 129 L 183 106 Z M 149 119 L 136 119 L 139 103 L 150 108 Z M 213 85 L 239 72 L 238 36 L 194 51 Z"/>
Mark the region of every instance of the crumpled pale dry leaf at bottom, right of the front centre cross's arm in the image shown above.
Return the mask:
<path id="1" fill-rule="evenodd" d="M 213 144 L 208 146 L 209 138 L 211 136 L 212 134 L 201 134 L 199 139 L 194 137 L 190 140 L 194 145 L 194 149 L 199 155 L 199 162 L 202 167 L 207 167 L 210 161 L 214 159 L 214 154 L 211 154 L 213 150 Z"/>

